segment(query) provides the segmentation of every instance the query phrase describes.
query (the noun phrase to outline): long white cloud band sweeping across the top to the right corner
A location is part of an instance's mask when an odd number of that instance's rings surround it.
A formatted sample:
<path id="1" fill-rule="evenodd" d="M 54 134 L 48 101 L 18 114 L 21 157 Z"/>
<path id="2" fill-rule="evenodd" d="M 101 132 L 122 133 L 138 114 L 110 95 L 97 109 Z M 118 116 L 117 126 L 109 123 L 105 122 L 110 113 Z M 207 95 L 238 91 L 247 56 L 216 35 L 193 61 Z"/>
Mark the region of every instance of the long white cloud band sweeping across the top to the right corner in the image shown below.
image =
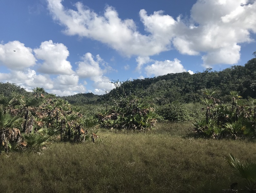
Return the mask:
<path id="1" fill-rule="evenodd" d="M 147 35 L 133 20 L 120 19 L 113 7 L 99 15 L 80 2 L 75 6 L 77 10 L 66 9 L 62 0 L 48 0 L 48 9 L 66 34 L 101 41 L 126 56 L 149 57 L 174 47 L 182 54 L 202 54 L 205 67 L 234 64 L 240 59 L 239 44 L 251 42 L 250 34 L 256 32 L 256 2 L 249 0 L 198 0 L 188 20 L 163 11 L 147 15 L 142 9 L 139 16 Z"/>

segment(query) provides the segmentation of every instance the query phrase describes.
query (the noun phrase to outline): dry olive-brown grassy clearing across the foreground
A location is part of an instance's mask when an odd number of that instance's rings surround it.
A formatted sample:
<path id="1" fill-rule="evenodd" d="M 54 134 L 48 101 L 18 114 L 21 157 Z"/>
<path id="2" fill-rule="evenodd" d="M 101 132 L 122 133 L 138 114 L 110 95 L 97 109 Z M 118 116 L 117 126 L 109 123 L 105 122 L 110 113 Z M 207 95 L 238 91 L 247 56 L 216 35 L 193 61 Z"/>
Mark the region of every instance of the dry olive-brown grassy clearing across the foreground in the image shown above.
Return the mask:
<path id="1" fill-rule="evenodd" d="M 254 142 L 184 137 L 189 123 L 145 132 L 100 130 L 96 143 L 53 143 L 0 155 L 2 192 L 220 192 L 237 181 L 223 162 L 256 157 Z"/>

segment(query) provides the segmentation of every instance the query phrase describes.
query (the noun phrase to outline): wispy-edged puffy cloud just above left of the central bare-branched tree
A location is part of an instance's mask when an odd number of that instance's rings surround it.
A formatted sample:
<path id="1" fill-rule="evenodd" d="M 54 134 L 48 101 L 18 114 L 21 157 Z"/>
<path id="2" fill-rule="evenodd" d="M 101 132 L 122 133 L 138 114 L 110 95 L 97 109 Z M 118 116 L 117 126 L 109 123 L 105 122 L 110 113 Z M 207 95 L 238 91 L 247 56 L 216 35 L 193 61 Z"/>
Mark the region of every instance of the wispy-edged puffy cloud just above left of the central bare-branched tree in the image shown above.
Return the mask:
<path id="1" fill-rule="evenodd" d="M 89 52 L 84 54 L 81 59 L 82 61 L 76 62 L 78 65 L 76 73 L 80 78 L 90 78 L 94 81 L 93 86 L 97 89 L 111 90 L 114 88 L 109 78 L 104 76 L 104 73 L 113 69 L 100 58 L 99 54 L 96 56 L 96 60 Z"/>

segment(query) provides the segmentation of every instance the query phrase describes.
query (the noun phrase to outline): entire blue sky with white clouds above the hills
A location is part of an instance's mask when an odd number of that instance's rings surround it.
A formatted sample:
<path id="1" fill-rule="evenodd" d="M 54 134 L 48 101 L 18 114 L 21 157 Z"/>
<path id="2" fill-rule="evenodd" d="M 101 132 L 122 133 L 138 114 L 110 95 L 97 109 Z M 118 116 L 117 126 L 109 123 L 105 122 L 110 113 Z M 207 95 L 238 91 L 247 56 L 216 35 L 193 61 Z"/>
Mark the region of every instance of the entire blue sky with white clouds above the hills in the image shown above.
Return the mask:
<path id="1" fill-rule="evenodd" d="M 256 0 L 0 0 L 0 82 L 68 96 L 244 65 Z"/>

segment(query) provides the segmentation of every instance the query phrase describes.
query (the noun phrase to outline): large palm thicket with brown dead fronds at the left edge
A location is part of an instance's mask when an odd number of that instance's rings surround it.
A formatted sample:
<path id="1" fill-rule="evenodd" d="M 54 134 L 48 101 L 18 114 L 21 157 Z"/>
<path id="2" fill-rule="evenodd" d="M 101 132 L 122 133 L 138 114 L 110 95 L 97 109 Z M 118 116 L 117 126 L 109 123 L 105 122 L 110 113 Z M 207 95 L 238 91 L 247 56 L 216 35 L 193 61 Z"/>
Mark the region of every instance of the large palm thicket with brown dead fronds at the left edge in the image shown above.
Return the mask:
<path id="1" fill-rule="evenodd" d="M 93 139 L 97 120 L 81 114 L 67 101 L 35 88 L 33 96 L 0 96 L 0 151 L 39 151 L 50 140 Z"/>

